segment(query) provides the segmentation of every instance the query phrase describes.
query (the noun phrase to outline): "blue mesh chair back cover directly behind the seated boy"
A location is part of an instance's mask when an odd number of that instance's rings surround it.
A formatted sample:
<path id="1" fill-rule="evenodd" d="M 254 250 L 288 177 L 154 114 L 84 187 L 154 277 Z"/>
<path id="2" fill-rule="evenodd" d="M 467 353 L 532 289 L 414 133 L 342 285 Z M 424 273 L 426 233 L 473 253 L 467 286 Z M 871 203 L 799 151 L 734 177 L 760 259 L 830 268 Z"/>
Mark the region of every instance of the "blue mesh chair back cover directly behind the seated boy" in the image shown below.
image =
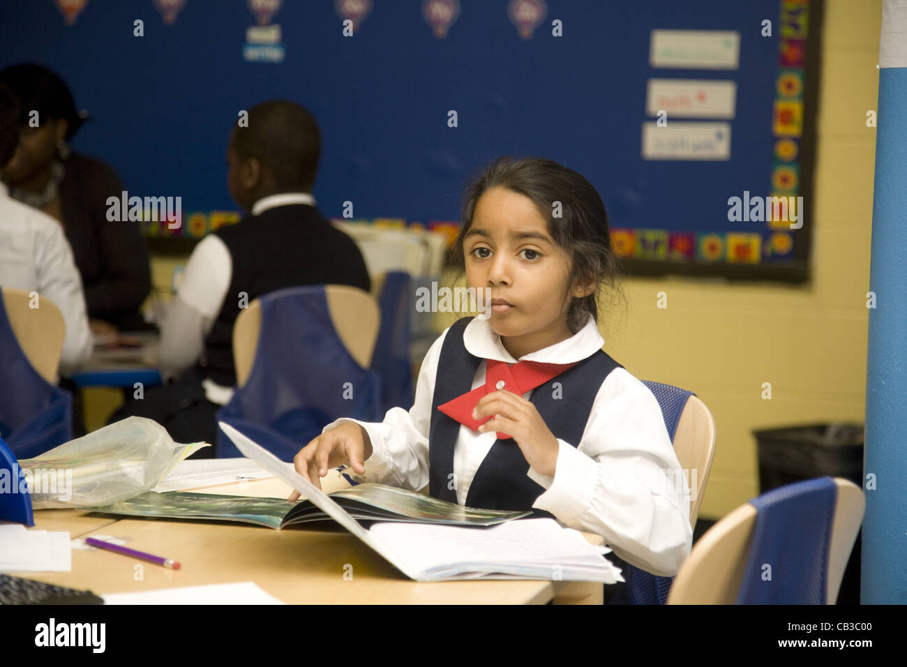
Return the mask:
<path id="1" fill-rule="evenodd" d="M 337 336 L 324 285 L 259 298 L 261 330 L 249 378 L 218 419 L 284 461 L 338 417 L 380 418 L 380 381 Z M 218 456 L 241 456 L 218 429 Z"/>

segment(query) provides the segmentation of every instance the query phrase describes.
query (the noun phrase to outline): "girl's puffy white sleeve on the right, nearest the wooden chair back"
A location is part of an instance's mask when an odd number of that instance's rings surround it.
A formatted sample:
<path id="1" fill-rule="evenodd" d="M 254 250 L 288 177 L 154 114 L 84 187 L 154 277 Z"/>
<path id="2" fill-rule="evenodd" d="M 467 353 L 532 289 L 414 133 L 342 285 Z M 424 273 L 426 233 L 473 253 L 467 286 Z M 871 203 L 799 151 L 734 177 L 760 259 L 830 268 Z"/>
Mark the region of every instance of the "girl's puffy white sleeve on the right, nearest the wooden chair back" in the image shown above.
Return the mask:
<path id="1" fill-rule="evenodd" d="M 616 555 L 660 576 L 677 574 L 692 547 L 686 477 L 658 399 L 623 368 L 602 383 L 580 445 L 558 440 L 554 476 L 532 505 L 605 538 Z"/>

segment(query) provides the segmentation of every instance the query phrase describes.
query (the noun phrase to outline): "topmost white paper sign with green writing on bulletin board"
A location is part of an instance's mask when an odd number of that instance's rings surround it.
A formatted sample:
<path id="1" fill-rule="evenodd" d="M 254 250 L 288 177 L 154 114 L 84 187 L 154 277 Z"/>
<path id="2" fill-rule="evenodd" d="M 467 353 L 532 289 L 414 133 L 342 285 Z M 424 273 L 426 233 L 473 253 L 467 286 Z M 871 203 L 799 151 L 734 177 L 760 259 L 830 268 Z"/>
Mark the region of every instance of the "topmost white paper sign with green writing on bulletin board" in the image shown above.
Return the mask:
<path id="1" fill-rule="evenodd" d="M 739 60 L 736 30 L 653 30 L 649 38 L 652 67 L 736 70 Z"/>

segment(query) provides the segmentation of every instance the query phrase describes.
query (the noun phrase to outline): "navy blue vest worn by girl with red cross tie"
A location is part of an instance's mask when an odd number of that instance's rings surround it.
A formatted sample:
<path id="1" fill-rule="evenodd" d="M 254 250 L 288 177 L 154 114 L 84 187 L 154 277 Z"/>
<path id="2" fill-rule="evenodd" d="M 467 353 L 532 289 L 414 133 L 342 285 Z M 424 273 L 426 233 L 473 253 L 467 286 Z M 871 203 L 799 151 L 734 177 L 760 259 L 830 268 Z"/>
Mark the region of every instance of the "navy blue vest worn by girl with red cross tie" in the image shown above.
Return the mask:
<path id="1" fill-rule="evenodd" d="M 483 359 L 471 355 L 463 345 L 463 329 L 471 319 L 458 320 L 444 338 L 435 376 L 441 379 L 434 383 L 432 399 L 428 492 L 451 503 L 457 502 L 451 475 L 453 446 L 461 425 L 441 412 L 438 406 L 473 388 L 475 371 Z M 623 367 L 599 350 L 551 379 L 551 382 L 536 387 L 530 402 L 555 437 L 578 446 L 601 383 L 615 368 Z M 555 383 L 561 386 L 554 387 Z M 545 489 L 526 475 L 528 471 L 529 463 L 522 456 L 520 446 L 512 439 L 495 440 L 475 472 L 466 495 L 466 505 L 484 509 L 529 510 L 537 516 L 551 516 L 547 512 L 533 510 L 532 503 Z"/>

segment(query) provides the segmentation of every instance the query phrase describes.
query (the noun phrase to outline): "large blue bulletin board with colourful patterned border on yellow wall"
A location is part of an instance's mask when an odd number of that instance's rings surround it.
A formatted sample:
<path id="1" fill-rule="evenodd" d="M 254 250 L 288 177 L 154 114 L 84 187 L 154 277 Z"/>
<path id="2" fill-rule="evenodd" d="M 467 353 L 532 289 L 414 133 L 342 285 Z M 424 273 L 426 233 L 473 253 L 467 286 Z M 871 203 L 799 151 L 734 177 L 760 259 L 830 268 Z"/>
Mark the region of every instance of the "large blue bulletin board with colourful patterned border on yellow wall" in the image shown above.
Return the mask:
<path id="1" fill-rule="evenodd" d="M 5 0 L 0 65 L 53 68 L 92 117 L 73 149 L 112 164 L 131 194 L 181 196 L 180 230 L 152 234 L 199 237 L 238 218 L 230 128 L 279 97 L 317 117 L 314 194 L 328 217 L 352 201 L 356 219 L 457 221 L 476 170 L 541 155 L 600 191 L 632 275 L 799 282 L 820 10 L 816 0 Z M 781 211 L 781 197 L 794 208 Z"/>

